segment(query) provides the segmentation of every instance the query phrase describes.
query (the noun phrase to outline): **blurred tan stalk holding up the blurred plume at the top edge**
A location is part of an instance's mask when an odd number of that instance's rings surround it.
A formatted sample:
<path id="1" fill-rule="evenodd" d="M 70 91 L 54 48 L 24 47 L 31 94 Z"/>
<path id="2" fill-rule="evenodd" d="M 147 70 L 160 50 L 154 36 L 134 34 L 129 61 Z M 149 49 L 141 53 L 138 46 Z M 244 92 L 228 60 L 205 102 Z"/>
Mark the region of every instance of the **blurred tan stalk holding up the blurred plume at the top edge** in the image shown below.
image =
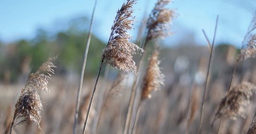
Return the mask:
<path id="1" fill-rule="evenodd" d="M 145 50 L 146 43 L 147 43 L 147 41 L 145 41 L 145 40 L 142 42 L 141 48 L 143 50 Z M 140 67 L 142 65 L 141 59 L 143 59 L 142 58 L 143 55 L 144 55 L 144 53 L 141 53 L 141 56 L 139 56 L 139 59 L 138 59 L 138 66 L 137 66 L 138 71 L 140 70 Z M 136 93 L 135 89 L 136 89 L 137 80 L 138 80 L 138 75 L 135 75 L 132 93 L 130 95 L 130 100 L 129 100 L 129 104 L 128 104 L 128 109 L 127 109 L 127 114 L 126 114 L 125 124 L 124 124 L 124 129 L 123 129 L 122 134 L 128 134 L 128 131 L 129 131 L 132 113 L 133 113 L 133 107 L 134 107 L 134 100 L 135 100 L 135 93 Z"/>

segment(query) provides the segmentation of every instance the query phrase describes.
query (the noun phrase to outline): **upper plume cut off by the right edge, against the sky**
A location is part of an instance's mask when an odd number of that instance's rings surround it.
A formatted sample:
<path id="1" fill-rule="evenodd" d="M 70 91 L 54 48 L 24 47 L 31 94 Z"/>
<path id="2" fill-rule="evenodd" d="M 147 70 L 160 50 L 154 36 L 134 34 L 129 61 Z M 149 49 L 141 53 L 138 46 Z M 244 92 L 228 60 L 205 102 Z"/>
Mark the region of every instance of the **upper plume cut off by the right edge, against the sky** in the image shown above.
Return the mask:
<path id="1" fill-rule="evenodd" d="M 247 34 L 244 36 L 243 47 L 240 54 L 237 56 L 237 61 L 244 61 L 247 58 L 256 57 L 256 34 L 253 33 L 256 29 L 256 12 L 249 25 Z"/>

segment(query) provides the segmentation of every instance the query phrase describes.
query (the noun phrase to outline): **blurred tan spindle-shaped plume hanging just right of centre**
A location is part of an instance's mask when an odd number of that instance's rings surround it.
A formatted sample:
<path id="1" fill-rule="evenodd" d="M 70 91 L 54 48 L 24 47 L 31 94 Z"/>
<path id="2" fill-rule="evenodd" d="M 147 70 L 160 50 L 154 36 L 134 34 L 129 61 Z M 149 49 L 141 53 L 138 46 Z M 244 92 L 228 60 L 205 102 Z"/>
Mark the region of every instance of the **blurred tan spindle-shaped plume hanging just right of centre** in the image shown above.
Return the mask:
<path id="1" fill-rule="evenodd" d="M 160 86 L 164 84 L 164 75 L 159 67 L 158 55 L 159 52 L 156 47 L 149 59 L 146 75 L 143 79 L 141 101 L 150 98 L 151 92 L 160 89 Z"/>

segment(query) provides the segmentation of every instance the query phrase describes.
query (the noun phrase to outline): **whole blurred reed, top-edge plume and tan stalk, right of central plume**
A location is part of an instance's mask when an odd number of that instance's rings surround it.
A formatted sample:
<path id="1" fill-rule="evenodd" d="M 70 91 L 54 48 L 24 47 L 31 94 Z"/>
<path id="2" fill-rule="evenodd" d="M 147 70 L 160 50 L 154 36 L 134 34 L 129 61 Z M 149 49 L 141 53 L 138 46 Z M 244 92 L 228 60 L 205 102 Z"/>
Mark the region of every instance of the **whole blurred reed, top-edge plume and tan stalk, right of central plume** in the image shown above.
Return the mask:
<path id="1" fill-rule="evenodd" d="M 158 0 L 158 2 L 155 4 L 155 8 L 152 10 L 148 20 L 147 20 L 147 25 L 146 25 L 146 39 L 142 42 L 141 48 L 145 50 L 146 44 L 148 41 L 152 39 L 163 39 L 167 35 L 170 35 L 171 33 L 167 32 L 170 29 L 169 24 L 175 18 L 175 10 L 170 10 L 165 8 L 165 6 L 169 3 L 171 3 L 172 0 Z M 141 65 L 142 65 L 142 60 L 143 59 L 143 53 L 141 56 L 139 56 L 138 59 L 138 70 L 140 70 Z M 124 124 L 124 129 L 122 134 L 127 134 L 129 133 L 129 128 L 131 124 L 131 118 L 132 118 L 132 112 L 133 112 L 133 107 L 135 103 L 135 97 L 136 97 L 136 87 L 137 87 L 137 82 L 139 78 L 136 75 L 134 78 L 134 83 L 133 83 L 133 88 L 132 92 L 130 95 L 129 99 L 129 104 L 128 104 L 128 109 L 127 109 L 127 114 L 125 118 L 125 124 Z"/>

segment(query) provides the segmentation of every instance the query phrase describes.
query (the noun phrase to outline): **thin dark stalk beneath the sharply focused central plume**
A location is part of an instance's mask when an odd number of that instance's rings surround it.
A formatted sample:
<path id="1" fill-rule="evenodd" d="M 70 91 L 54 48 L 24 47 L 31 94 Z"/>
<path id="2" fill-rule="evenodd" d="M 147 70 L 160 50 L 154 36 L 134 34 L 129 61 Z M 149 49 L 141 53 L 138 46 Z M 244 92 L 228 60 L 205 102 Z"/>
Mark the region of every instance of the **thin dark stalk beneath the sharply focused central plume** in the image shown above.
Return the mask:
<path id="1" fill-rule="evenodd" d="M 95 91 L 96 91 L 96 86 L 97 86 L 97 83 L 98 83 L 98 78 L 99 78 L 101 69 L 103 67 L 103 62 L 104 61 L 103 61 L 103 58 L 102 58 L 101 62 L 100 62 L 100 65 L 99 65 L 98 74 L 97 74 L 96 82 L 95 82 L 94 89 L 93 89 L 93 92 L 92 92 L 92 96 L 91 96 L 91 100 L 90 100 L 90 103 L 89 103 L 89 107 L 88 107 L 88 110 L 87 110 L 87 114 L 86 114 L 86 118 L 85 118 L 85 124 L 84 124 L 84 128 L 83 128 L 83 134 L 85 134 L 86 125 L 87 125 L 89 114 L 90 114 L 90 111 L 91 111 L 92 102 L 93 102 L 94 94 L 95 94 Z"/>

